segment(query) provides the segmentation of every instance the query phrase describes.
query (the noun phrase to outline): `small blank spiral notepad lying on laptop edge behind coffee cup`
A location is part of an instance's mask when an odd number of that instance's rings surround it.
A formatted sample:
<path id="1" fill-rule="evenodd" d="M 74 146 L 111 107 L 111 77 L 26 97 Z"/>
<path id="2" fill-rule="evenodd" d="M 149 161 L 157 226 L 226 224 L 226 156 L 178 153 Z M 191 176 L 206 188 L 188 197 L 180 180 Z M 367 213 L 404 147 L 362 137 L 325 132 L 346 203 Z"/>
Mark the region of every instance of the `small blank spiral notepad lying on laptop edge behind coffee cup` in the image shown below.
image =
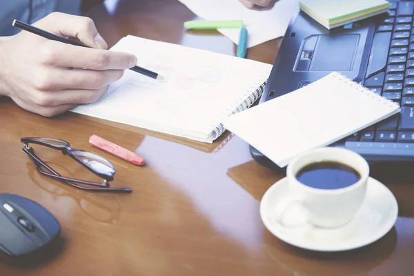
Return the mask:
<path id="1" fill-rule="evenodd" d="M 337 72 L 228 117 L 224 126 L 277 166 L 400 112 L 400 106 Z"/>

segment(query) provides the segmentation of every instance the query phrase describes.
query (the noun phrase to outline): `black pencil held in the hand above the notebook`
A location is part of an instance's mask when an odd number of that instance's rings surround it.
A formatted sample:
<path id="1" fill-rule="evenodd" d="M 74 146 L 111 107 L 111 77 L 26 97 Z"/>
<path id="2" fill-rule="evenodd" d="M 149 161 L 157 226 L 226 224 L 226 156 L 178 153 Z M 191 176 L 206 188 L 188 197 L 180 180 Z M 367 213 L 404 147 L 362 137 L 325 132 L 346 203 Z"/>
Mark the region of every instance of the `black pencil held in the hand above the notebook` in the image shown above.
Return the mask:
<path id="1" fill-rule="evenodd" d="M 23 23 L 23 22 L 21 22 L 17 19 L 14 19 L 14 21 L 12 23 L 12 26 L 20 28 L 21 30 L 26 30 L 28 32 L 32 32 L 32 34 L 37 34 L 37 35 L 39 35 L 41 37 L 44 37 L 46 39 L 60 41 L 60 42 L 75 45 L 75 46 L 90 48 L 90 47 L 88 47 L 86 45 L 83 45 L 81 43 L 77 43 L 75 41 L 67 39 L 66 37 L 61 37 L 57 34 L 52 34 L 51 32 L 47 32 L 46 30 L 41 30 L 41 29 L 36 28 L 36 27 L 34 27 L 32 25 L 29 25 L 27 23 Z M 134 67 L 129 68 L 129 69 L 132 70 L 132 71 L 138 72 L 139 74 L 146 75 L 147 77 L 150 77 L 152 79 L 164 79 L 164 77 L 159 75 L 157 72 L 152 72 L 152 71 L 150 71 L 146 68 L 142 68 L 142 67 L 139 67 L 139 66 L 134 66 Z"/>

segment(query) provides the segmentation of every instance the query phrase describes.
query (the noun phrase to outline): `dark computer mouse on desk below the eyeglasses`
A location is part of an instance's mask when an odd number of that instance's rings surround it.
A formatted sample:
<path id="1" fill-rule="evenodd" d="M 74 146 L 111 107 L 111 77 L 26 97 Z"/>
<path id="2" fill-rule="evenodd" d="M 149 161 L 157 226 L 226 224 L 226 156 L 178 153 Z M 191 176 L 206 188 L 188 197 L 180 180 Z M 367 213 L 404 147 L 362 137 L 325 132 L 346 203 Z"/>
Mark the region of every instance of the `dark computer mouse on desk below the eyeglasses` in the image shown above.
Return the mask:
<path id="1" fill-rule="evenodd" d="M 59 237 L 59 221 L 36 202 L 0 193 L 0 257 L 26 262 L 44 252 Z"/>

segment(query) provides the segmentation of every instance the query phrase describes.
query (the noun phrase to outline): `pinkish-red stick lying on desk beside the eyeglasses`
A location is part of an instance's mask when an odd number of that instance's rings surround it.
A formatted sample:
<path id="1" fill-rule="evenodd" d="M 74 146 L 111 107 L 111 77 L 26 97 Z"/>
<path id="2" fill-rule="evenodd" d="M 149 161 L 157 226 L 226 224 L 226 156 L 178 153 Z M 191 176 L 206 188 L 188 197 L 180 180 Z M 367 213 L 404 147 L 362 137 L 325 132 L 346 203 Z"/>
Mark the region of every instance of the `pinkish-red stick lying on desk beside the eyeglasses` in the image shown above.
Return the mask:
<path id="1" fill-rule="evenodd" d="M 135 164 L 135 165 L 145 164 L 144 159 L 142 159 L 142 157 L 137 155 L 135 152 L 127 150 L 126 148 L 122 148 L 121 146 L 118 146 L 117 144 L 113 144 L 112 142 L 107 141 L 97 135 L 92 135 L 89 138 L 89 143 L 92 146 L 95 146 L 103 151 L 106 151 L 110 153 L 111 155 L 115 155 L 116 157 L 124 159 L 132 164 Z"/>

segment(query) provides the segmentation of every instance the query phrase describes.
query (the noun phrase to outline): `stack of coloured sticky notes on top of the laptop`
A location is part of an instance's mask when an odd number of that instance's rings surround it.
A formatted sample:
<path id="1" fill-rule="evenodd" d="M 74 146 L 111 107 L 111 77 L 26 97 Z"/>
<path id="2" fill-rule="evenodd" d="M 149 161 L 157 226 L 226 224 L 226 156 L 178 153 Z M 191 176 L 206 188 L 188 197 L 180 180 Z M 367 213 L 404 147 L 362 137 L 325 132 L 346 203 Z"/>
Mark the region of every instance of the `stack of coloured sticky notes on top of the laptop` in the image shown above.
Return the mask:
<path id="1" fill-rule="evenodd" d="M 386 0 L 300 0 L 299 6 L 328 30 L 389 10 Z"/>

